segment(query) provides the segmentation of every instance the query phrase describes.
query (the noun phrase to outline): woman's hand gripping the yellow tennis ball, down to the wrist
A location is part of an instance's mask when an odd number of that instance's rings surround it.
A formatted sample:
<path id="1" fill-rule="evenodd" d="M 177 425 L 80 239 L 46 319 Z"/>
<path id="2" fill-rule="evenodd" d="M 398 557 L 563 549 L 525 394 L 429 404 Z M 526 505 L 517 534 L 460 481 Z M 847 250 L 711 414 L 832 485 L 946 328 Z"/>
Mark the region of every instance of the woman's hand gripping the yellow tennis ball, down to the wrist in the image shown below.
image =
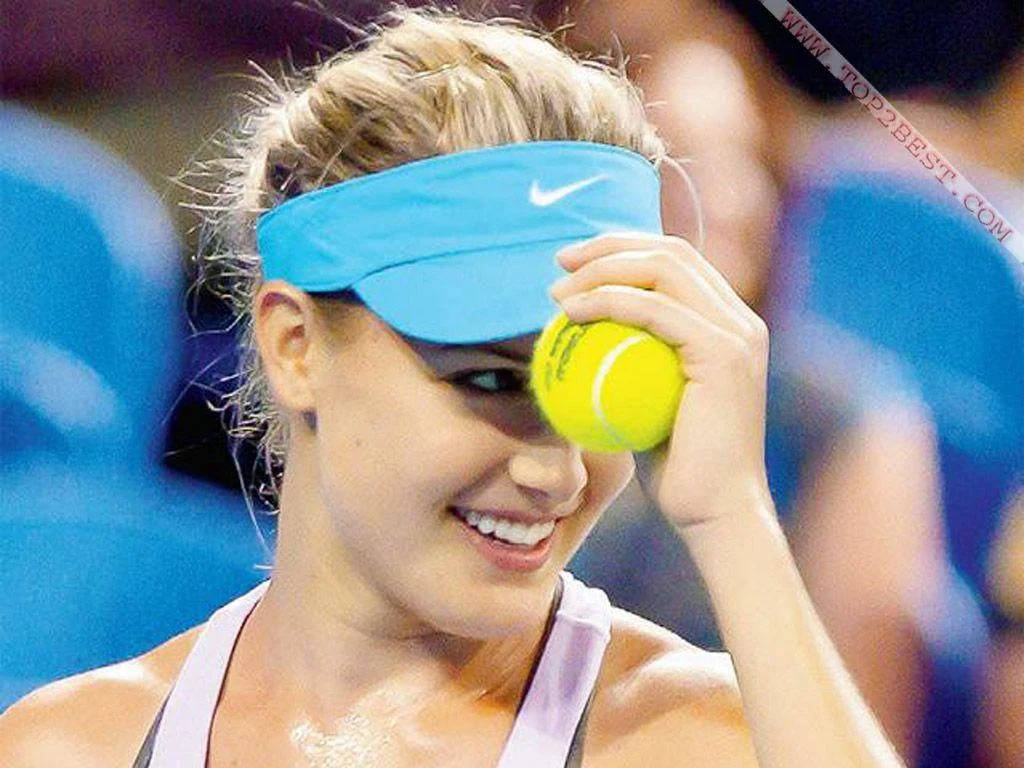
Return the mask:
<path id="1" fill-rule="evenodd" d="M 609 233 L 562 249 L 551 295 L 573 323 L 610 319 L 674 347 L 686 384 L 672 436 L 636 456 L 644 493 L 680 532 L 767 494 L 768 328 L 681 238 Z"/>

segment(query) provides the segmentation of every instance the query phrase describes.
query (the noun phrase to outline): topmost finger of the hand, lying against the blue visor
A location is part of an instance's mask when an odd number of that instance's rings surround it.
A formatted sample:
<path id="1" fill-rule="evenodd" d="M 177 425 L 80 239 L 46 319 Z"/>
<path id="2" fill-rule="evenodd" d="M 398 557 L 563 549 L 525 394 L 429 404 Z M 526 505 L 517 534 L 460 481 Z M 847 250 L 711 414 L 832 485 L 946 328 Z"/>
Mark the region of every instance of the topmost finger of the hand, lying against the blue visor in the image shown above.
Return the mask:
<path id="1" fill-rule="evenodd" d="M 744 336 L 753 337 L 765 332 L 764 321 L 758 313 L 739 298 L 725 276 L 684 238 L 650 232 L 605 232 L 582 243 L 566 246 L 558 252 L 557 259 L 558 263 L 565 269 L 573 271 L 584 263 L 616 250 L 640 248 L 667 248 L 677 254 L 680 259 L 697 269 L 708 281 L 708 284 L 732 307 L 735 314 L 746 326 Z"/>

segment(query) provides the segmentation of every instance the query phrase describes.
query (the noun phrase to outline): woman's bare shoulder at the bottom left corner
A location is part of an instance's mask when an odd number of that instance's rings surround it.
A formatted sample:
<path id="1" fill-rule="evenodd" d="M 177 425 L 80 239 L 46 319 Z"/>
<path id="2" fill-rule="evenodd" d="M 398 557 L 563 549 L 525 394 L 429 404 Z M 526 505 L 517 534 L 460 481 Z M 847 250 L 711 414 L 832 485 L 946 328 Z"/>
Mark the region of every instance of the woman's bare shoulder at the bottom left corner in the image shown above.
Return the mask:
<path id="1" fill-rule="evenodd" d="M 15 701 L 0 715 L 4 765 L 131 765 L 203 626 L 134 658 L 55 680 Z"/>

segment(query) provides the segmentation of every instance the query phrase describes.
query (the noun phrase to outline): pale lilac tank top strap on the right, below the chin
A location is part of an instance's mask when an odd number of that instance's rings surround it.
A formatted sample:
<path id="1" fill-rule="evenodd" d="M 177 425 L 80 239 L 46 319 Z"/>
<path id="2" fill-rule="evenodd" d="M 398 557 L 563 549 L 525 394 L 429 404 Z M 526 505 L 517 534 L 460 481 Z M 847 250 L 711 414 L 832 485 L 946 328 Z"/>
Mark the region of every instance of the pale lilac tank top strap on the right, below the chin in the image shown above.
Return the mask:
<path id="1" fill-rule="evenodd" d="M 561 571 L 562 598 L 499 768 L 564 768 L 611 639 L 602 590 Z"/>

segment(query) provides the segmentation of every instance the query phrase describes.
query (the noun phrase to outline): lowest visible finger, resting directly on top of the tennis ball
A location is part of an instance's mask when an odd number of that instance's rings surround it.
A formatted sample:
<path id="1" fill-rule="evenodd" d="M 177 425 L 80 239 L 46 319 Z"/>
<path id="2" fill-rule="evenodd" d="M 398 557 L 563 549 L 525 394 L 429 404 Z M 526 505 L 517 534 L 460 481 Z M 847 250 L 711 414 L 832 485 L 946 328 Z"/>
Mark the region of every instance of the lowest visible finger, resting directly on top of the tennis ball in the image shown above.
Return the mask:
<path id="1" fill-rule="evenodd" d="M 691 366 L 717 362 L 724 350 L 731 352 L 743 344 L 741 337 L 665 294 L 631 286 L 599 286 L 568 297 L 561 305 L 575 324 L 610 319 L 649 331 L 681 349 Z"/>

